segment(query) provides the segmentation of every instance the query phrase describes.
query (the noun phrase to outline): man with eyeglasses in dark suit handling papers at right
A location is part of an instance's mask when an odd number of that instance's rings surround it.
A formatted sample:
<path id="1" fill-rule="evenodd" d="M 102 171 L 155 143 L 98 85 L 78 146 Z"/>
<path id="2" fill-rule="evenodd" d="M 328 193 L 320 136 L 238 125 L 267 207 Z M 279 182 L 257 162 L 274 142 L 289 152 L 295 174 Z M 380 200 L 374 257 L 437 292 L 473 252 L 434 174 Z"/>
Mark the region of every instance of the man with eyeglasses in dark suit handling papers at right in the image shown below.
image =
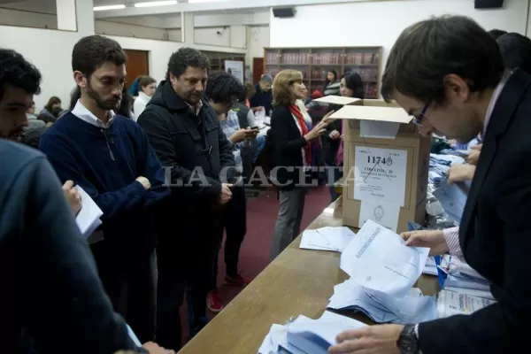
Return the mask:
<path id="1" fill-rule="evenodd" d="M 491 282 L 496 304 L 471 315 L 347 331 L 330 353 L 521 351 L 531 329 L 531 75 L 505 70 L 495 40 L 473 19 L 444 16 L 398 37 L 381 91 L 427 131 L 458 142 L 483 133 L 458 235 L 405 233 L 404 239 L 432 254 L 465 258 Z"/>

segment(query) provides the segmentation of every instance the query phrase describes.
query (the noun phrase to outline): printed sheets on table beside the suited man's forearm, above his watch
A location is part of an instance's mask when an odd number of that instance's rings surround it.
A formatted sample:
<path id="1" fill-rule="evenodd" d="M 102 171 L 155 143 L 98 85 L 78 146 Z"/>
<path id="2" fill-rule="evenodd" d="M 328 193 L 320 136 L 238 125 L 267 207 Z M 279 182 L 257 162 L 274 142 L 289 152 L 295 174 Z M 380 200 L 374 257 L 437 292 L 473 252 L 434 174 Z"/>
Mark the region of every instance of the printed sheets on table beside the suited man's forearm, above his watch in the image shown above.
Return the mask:
<path id="1" fill-rule="evenodd" d="M 443 290 L 437 298 L 437 313 L 440 319 L 453 315 L 469 315 L 494 303 L 496 302 L 486 298 Z"/>

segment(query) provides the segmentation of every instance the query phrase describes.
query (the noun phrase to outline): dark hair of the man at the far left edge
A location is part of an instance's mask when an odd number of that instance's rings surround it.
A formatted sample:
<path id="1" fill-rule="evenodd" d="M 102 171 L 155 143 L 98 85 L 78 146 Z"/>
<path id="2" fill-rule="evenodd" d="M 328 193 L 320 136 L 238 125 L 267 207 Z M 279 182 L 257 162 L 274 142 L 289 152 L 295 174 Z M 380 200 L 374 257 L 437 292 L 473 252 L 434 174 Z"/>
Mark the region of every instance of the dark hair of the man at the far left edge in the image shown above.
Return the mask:
<path id="1" fill-rule="evenodd" d="M 15 50 L 0 49 L 0 100 L 4 86 L 23 89 L 28 94 L 41 92 L 41 73 Z"/>

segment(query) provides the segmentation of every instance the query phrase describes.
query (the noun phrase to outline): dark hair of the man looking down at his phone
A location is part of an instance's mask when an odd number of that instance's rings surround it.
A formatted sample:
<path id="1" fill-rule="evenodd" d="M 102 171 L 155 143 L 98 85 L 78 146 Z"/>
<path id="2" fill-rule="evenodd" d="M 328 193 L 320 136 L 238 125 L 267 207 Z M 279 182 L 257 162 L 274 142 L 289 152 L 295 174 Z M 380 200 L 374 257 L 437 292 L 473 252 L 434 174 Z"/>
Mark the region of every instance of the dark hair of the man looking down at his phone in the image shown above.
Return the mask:
<path id="1" fill-rule="evenodd" d="M 215 104 L 234 104 L 234 99 L 241 101 L 245 97 L 245 89 L 232 74 L 216 72 L 209 75 L 204 96 Z"/>

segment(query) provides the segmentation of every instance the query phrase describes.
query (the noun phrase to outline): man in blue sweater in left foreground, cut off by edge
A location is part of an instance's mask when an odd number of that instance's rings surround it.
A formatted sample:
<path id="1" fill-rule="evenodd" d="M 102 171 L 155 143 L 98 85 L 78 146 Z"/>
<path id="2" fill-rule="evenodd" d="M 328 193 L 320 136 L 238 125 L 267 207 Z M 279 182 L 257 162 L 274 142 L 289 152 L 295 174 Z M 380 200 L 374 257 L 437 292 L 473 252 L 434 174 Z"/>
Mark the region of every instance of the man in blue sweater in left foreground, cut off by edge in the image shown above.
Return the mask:
<path id="1" fill-rule="evenodd" d="M 0 49 L 0 313 L 2 352 L 20 352 L 21 334 L 42 353 L 167 353 L 137 348 L 112 311 L 94 258 L 46 158 L 15 139 L 39 92 L 41 73 Z"/>

